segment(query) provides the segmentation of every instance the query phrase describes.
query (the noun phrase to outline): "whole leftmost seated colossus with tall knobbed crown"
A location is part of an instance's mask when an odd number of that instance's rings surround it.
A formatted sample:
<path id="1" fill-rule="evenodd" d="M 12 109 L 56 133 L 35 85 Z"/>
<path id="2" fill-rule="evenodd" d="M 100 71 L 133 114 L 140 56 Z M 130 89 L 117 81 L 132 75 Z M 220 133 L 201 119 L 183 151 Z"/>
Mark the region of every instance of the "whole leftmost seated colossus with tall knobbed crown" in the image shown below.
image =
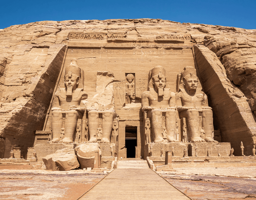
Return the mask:
<path id="1" fill-rule="evenodd" d="M 65 88 L 59 88 L 55 93 L 56 101 L 52 108 L 52 141 L 49 143 L 60 140 L 63 113 L 66 117 L 62 142 L 73 143 L 77 119 L 82 119 L 86 109 L 82 100 L 87 99 L 87 93 L 83 91 L 81 79 L 83 80 L 83 71 L 73 58 L 70 65 L 65 68 Z"/>

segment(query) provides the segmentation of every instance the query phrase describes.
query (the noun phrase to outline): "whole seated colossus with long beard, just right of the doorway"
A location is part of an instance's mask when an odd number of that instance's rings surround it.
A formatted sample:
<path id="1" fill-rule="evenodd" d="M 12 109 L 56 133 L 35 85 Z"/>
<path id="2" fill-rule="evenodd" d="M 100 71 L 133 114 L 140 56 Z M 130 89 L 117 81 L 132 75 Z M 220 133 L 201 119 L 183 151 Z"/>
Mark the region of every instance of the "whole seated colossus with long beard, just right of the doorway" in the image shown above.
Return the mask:
<path id="1" fill-rule="evenodd" d="M 148 111 L 151 121 L 151 131 L 154 142 L 162 142 L 162 116 L 165 112 L 165 127 L 167 140 L 177 142 L 175 139 L 175 93 L 170 91 L 165 77 L 165 69 L 161 66 L 154 67 L 151 72 L 149 89 L 141 95 L 142 111 Z"/>

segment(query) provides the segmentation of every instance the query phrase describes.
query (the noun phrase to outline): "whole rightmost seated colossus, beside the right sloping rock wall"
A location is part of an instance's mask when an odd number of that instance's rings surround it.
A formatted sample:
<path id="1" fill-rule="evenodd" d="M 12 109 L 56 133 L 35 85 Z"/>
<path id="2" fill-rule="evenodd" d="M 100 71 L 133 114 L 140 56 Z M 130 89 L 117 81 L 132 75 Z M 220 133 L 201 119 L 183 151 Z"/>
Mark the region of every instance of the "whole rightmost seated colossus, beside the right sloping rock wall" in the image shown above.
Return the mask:
<path id="1" fill-rule="evenodd" d="M 207 95 L 197 91 L 198 77 L 196 69 L 186 67 L 181 72 L 181 83 L 177 94 L 177 110 L 180 117 L 187 118 L 191 142 L 216 142 L 212 139 L 212 108 L 208 106 Z M 205 138 L 200 137 L 199 111 L 202 113 L 202 127 L 205 131 Z"/>

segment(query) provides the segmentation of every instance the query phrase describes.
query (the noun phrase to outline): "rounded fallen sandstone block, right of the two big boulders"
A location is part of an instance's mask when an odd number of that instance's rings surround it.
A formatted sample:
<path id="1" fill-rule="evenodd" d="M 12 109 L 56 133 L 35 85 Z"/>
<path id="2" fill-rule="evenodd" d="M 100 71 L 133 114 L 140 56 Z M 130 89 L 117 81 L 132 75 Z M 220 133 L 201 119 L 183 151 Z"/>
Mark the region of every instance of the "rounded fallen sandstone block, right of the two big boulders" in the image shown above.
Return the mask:
<path id="1" fill-rule="evenodd" d="M 94 168 L 95 152 L 98 152 L 98 155 L 101 156 L 101 150 L 99 148 L 99 144 L 97 143 L 81 144 L 76 147 L 76 151 L 81 169 L 87 167 Z"/>

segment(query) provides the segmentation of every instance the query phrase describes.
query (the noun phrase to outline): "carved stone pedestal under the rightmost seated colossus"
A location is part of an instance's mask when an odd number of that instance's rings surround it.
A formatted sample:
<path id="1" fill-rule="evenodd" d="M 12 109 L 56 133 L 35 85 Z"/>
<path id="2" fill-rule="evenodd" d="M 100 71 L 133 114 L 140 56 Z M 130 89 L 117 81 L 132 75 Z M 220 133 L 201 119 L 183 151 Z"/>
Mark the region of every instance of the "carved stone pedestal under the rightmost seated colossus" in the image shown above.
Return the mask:
<path id="1" fill-rule="evenodd" d="M 220 143 L 210 143 L 210 142 L 198 142 L 198 143 L 188 143 L 188 155 L 196 156 L 195 144 L 198 147 L 197 156 L 207 156 L 207 149 L 210 147 L 211 156 L 229 156 L 230 154 L 230 143 L 220 142 Z"/>

